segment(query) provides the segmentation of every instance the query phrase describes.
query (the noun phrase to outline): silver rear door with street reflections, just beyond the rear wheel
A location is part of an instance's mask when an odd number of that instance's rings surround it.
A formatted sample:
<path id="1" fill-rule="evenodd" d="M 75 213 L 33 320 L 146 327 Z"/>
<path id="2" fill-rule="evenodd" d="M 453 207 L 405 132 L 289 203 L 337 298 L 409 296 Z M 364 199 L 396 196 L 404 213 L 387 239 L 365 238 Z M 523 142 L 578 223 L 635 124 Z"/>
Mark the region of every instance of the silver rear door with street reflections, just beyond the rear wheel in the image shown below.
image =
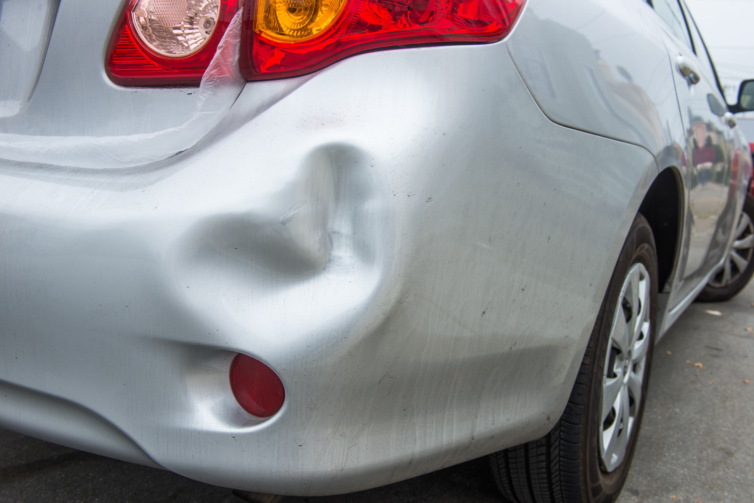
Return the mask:
<path id="1" fill-rule="evenodd" d="M 709 58 L 700 41 L 694 44 L 679 0 L 654 0 L 664 23 L 676 93 L 685 130 L 685 246 L 680 258 L 677 294 L 690 291 L 722 259 L 725 247 L 711 246 L 728 203 L 731 182 L 730 128 L 727 108 Z M 700 45 L 700 47 L 695 47 Z M 701 57 L 703 56 L 703 57 Z M 705 60 L 706 59 L 706 60 Z M 726 233 L 727 236 L 727 233 Z"/>

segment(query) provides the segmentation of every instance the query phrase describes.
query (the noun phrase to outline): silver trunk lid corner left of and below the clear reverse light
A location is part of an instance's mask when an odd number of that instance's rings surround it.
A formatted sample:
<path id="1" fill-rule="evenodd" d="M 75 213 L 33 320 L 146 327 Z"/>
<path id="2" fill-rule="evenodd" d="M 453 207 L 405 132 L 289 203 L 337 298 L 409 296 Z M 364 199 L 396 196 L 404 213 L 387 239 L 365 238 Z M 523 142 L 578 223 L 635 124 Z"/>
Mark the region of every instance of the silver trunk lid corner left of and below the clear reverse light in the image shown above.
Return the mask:
<path id="1" fill-rule="evenodd" d="M 107 45 L 122 5 L 118 0 L 60 2 L 41 72 L 33 66 L 23 69 L 23 74 L 38 74 L 34 93 L 17 114 L 0 117 L 0 132 L 133 135 L 189 120 L 195 89 L 120 87 L 107 77 Z"/>

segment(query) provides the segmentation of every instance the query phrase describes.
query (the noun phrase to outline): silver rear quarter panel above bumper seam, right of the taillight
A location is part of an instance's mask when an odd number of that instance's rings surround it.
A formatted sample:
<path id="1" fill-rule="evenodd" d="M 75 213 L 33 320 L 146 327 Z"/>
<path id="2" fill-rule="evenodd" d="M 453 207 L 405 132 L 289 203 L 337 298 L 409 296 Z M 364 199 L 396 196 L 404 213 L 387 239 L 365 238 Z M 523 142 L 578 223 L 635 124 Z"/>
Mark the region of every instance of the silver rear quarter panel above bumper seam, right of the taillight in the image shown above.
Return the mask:
<path id="1" fill-rule="evenodd" d="M 545 0 L 528 9 L 508 45 L 547 117 L 655 155 L 676 141 L 672 69 L 646 2 Z"/>

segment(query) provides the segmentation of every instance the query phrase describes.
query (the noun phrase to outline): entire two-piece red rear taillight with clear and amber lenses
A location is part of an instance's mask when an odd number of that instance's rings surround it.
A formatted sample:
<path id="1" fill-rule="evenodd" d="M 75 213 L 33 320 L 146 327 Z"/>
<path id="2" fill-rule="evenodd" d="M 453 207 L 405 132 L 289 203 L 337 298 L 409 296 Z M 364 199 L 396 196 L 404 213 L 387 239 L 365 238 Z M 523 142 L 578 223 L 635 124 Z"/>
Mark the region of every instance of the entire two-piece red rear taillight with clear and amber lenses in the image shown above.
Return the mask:
<path id="1" fill-rule="evenodd" d="M 198 85 L 244 0 L 128 0 L 107 73 L 130 86 Z M 525 0 L 245 0 L 241 72 L 293 77 L 368 50 L 503 38 Z"/>

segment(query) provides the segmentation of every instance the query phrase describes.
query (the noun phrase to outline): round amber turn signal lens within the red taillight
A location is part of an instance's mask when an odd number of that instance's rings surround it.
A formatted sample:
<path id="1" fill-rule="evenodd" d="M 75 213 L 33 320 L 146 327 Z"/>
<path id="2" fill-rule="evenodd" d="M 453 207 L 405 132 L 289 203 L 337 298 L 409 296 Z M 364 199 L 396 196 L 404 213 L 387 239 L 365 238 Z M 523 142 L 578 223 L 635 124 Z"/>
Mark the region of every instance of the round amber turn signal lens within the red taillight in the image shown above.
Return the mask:
<path id="1" fill-rule="evenodd" d="M 333 26 L 344 0 L 258 0 L 256 32 L 274 41 L 306 41 Z"/>

